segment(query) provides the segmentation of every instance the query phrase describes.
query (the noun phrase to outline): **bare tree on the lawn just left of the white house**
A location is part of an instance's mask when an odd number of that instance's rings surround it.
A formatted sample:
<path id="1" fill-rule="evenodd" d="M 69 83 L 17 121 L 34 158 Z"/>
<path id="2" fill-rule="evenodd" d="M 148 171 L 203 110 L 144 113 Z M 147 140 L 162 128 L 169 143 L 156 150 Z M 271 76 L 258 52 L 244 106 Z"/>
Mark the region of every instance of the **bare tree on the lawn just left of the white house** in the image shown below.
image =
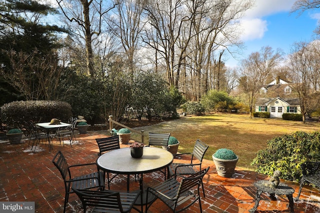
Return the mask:
<path id="1" fill-rule="evenodd" d="M 282 53 L 279 49 L 274 52 L 271 47 L 266 46 L 262 47 L 260 52 L 253 52 L 241 61 L 239 86 L 249 100 L 251 118 L 253 103 L 260 86 L 265 83 L 266 77 L 281 59 Z"/>

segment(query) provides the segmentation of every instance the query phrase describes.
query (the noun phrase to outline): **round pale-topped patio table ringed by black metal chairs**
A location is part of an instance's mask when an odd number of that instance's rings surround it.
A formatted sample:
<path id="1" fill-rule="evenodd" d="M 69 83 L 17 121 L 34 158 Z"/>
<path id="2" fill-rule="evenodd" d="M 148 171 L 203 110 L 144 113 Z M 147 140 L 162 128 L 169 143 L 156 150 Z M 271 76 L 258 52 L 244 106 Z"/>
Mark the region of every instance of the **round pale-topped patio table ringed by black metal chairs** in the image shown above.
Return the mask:
<path id="1" fill-rule="evenodd" d="M 127 147 L 104 153 L 98 157 L 96 165 L 100 170 L 109 173 L 139 175 L 159 171 L 168 167 L 172 162 L 173 155 L 167 150 L 143 147 L 142 157 L 132 158 L 130 148 Z M 127 176 L 126 184 L 127 191 L 129 191 L 129 176 Z"/>

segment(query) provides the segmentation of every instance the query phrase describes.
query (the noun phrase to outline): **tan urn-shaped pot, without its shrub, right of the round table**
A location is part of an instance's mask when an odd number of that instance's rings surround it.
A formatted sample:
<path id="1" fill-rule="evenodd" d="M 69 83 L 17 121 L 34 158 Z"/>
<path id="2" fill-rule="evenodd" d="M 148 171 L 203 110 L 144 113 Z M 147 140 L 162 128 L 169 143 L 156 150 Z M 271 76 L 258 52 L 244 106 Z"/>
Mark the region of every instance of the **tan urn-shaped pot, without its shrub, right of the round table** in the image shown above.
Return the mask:
<path id="1" fill-rule="evenodd" d="M 218 175 L 224 178 L 230 178 L 234 174 L 234 168 L 239 158 L 236 156 L 234 160 L 223 160 L 215 158 L 213 154 L 212 159 Z"/>

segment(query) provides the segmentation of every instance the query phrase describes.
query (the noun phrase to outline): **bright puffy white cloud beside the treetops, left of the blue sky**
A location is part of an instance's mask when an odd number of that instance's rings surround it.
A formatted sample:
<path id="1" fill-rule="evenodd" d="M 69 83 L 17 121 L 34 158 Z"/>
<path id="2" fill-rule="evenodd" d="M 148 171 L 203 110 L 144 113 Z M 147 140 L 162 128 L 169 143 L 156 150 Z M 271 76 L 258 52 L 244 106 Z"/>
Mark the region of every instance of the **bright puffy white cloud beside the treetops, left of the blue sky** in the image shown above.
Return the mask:
<path id="1" fill-rule="evenodd" d="M 241 40 L 253 40 L 262 38 L 264 32 L 267 31 L 266 20 L 260 18 L 242 19 L 240 21 Z"/>

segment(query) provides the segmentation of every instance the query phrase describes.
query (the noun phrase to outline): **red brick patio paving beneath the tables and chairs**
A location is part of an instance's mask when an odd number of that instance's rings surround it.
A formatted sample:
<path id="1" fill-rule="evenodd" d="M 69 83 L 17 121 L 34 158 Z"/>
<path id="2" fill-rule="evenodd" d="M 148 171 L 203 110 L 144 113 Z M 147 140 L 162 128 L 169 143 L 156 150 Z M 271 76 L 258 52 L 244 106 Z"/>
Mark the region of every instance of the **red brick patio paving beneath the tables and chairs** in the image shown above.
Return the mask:
<path id="1" fill-rule="evenodd" d="M 0 202 L 5 201 L 34 201 L 37 213 L 61 213 L 63 211 L 64 185 L 58 170 L 51 160 L 58 150 L 61 150 L 70 165 L 95 162 L 98 148 L 95 138 L 103 138 L 101 132 L 89 132 L 76 135 L 78 144 L 60 145 L 53 140 L 53 150 L 48 152 L 45 143 L 39 145 L 39 152 L 29 152 L 28 142 L 18 145 L 8 145 L 0 141 Z M 174 159 L 185 162 L 186 159 Z M 255 188 L 253 183 L 267 179 L 267 176 L 236 168 L 232 178 L 217 176 L 212 161 L 205 160 L 203 168 L 210 170 L 205 176 L 205 198 L 201 198 L 204 213 L 247 213 L 254 206 Z M 89 171 L 79 171 L 89 172 Z M 163 181 L 161 173 L 150 173 L 143 176 L 148 185 Z M 281 182 L 284 182 L 283 180 Z M 130 180 L 130 190 L 138 189 L 134 176 Z M 286 182 L 295 189 L 298 184 Z M 111 190 L 125 190 L 126 179 L 119 176 L 113 180 Z M 201 194 L 202 195 L 202 194 Z M 279 213 L 288 212 L 288 201 L 285 196 L 277 196 L 276 201 L 270 201 L 267 195 L 261 196 L 257 212 Z M 304 187 L 300 200 L 294 202 L 295 213 L 320 213 L 320 194 L 314 188 Z M 71 194 L 67 213 L 82 212 L 76 195 Z M 132 211 L 135 212 L 135 211 Z M 160 201 L 156 201 L 148 213 L 170 212 Z M 198 203 L 195 203 L 184 213 L 197 213 Z"/>

